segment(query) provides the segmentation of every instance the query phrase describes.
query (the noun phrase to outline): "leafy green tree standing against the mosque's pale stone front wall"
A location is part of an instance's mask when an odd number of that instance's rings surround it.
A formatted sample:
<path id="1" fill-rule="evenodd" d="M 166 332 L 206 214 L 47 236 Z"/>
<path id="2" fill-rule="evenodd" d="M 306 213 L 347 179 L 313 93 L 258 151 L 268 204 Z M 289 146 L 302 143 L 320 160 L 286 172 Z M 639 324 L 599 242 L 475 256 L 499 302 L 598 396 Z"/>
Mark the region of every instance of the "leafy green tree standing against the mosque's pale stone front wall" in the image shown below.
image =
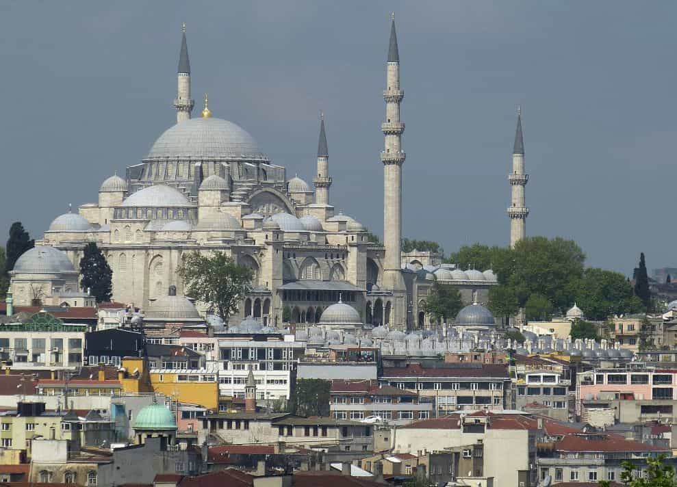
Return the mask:
<path id="1" fill-rule="evenodd" d="M 209 312 L 216 311 L 226 323 L 252 288 L 252 269 L 218 251 L 212 256 L 183 254 L 178 274 L 186 283 L 188 295 L 205 303 Z"/>

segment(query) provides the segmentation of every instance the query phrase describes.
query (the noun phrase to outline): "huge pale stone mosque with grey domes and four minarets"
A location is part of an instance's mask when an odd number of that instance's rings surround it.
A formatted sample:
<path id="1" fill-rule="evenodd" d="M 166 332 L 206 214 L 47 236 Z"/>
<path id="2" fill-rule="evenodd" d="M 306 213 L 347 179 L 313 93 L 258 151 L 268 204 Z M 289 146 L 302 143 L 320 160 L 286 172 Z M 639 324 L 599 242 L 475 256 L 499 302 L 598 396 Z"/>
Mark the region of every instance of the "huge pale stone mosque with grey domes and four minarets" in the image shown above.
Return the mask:
<path id="1" fill-rule="evenodd" d="M 78 289 L 76 269 L 90 241 L 113 271 L 113 299 L 142 309 L 158 300 L 185 300 L 176 272 L 182 254 L 215 250 L 253 269 L 253 290 L 232 317 L 235 323 L 253 317 L 277 326 L 288 315 L 295 323 L 318 324 L 328 306 L 342 302 L 367 326 L 426 328 L 430 321 L 423 306 L 435 278 L 461 289 L 466 302 L 486 302 L 489 287 L 496 285 L 491 270 L 424 265 L 406 260 L 406 254 L 403 261 L 404 92 L 394 18 L 385 70 L 383 245 L 370 242 L 359 221 L 331 205 L 334 181 L 323 116 L 312 185 L 296 176 L 288 179 L 285 168 L 271 161 L 252 135 L 213 116 L 206 94 L 200 116 L 192 117 L 184 25 L 173 102 L 176 123 L 159 135 L 141 163 L 127 167 L 125 177 L 115 174 L 103 181 L 98 202 L 55 218 L 36 248 L 18 259 L 12 272 L 14 305 L 39 298 L 42 304 L 81 306 L 86 293 Z M 528 215 L 520 116 L 513 153 L 511 244 L 524 237 Z"/>

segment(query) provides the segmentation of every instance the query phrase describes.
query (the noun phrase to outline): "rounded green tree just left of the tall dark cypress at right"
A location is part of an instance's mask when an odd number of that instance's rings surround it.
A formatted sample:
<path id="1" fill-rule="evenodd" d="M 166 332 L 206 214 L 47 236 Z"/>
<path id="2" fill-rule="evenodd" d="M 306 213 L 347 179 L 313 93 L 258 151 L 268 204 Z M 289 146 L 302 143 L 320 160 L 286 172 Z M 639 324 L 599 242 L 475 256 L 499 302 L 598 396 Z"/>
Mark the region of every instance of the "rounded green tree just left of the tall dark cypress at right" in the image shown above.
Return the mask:
<path id="1" fill-rule="evenodd" d="M 571 283 L 574 301 L 589 319 L 602 321 L 611 315 L 646 311 L 633 295 L 633 287 L 618 272 L 588 267 L 583 277 Z"/>

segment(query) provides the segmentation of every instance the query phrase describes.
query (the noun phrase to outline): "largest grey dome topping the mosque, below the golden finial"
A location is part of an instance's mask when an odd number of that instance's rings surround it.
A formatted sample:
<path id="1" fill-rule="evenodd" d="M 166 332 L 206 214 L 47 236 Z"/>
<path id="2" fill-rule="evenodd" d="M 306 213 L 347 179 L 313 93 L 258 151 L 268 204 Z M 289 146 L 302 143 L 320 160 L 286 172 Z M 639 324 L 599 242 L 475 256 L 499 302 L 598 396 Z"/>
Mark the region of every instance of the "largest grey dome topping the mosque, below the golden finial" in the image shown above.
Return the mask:
<path id="1" fill-rule="evenodd" d="M 268 162 L 254 137 L 220 118 L 192 118 L 167 129 L 146 159 L 196 159 Z"/>

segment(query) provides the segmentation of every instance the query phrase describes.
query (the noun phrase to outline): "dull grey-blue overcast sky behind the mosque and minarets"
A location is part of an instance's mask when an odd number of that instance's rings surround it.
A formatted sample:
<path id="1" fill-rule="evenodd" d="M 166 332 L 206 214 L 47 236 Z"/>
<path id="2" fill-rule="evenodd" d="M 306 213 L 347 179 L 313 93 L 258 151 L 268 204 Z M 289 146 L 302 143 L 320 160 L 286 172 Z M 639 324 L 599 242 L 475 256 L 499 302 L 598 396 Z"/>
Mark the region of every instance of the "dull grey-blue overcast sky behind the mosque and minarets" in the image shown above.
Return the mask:
<path id="1" fill-rule="evenodd" d="M 257 1 L 0 3 L 0 229 L 40 237 L 97 200 L 175 122 L 181 22 L 194 116 L 240 124 L 309 183 L 318 111 L 331 203 L 383 231 L 381 96 L 396 12 L 406 123 L 403 236 L 505 245 L 522 105 L 528 235 L 589 265 L 677 265 L 677 3 Z M 1 237 L 4 240 L 6 237 Z"/>

